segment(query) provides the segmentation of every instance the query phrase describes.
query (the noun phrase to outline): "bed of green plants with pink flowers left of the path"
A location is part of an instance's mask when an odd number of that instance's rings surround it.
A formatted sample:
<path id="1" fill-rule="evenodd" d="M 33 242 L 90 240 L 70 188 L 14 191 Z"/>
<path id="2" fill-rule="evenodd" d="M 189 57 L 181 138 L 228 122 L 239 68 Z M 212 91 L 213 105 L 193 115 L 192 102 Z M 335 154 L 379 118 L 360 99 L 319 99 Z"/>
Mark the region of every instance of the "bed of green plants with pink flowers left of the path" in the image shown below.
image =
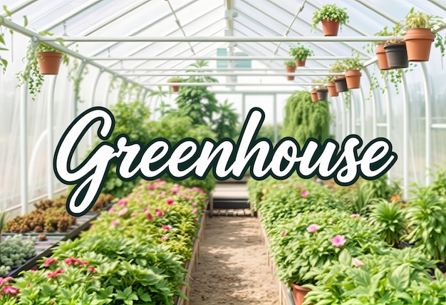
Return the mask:
<path id="1" fill-rule="evenodd" d="M 162 180 L 141 182 L 93 220 L 78 239 L 58 242 L 37 269 L 1 279 L 0 304 L 175 304 L 207 195 Z M 190 262 L 187 266 L 187 262 Z M 186 286 L 186 287 L 185 287 Z M 177 304 L 183 304 L 177 301 Z"/>

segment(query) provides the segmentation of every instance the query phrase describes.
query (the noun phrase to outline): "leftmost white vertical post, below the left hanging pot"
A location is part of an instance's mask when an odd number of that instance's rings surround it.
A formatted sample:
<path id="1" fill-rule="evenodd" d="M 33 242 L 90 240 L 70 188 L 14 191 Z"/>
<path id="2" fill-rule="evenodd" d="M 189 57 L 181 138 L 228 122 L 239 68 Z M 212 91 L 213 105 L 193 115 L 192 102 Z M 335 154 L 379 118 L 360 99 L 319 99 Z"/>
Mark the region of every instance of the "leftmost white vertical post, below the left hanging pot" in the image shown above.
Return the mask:
<path id="1" fill-rule="evenodd" d="M 20 199 L 21 214 L 28 212 L 28 82 L 21 87 L 20 95 Z"/>

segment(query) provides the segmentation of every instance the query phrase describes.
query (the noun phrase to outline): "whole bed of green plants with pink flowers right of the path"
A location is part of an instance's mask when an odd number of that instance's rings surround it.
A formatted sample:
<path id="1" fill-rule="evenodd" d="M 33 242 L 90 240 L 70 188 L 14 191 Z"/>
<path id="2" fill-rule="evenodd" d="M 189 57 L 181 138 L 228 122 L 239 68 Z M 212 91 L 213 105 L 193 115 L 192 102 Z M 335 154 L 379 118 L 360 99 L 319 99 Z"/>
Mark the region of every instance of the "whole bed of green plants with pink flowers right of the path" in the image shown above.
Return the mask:
<path id="1" fill-rule="evenodd" d="M 444 174 L 408 202 L 386 177 L 250 180 L 284 304 L 291 287 L 295 304 L 445 304 Z"/>

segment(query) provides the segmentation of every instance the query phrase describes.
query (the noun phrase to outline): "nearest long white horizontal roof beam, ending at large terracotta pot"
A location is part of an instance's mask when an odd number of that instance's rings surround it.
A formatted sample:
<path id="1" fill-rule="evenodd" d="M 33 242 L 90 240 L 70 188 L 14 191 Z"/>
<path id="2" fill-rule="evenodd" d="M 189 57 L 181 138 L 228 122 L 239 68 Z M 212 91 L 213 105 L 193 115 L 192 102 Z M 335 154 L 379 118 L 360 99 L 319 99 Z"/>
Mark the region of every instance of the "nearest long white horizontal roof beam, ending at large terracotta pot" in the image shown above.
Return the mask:
<path id="1" fill-rule="evenodd" d="M 77 42 L 369 42 L 387 41 L 395 36 L 46 36 L 41 41 L 77 41 Z M 404 39 L 397 36 L 396 39 Z M 107 48 L 105 48 L 106 50 Z"/>

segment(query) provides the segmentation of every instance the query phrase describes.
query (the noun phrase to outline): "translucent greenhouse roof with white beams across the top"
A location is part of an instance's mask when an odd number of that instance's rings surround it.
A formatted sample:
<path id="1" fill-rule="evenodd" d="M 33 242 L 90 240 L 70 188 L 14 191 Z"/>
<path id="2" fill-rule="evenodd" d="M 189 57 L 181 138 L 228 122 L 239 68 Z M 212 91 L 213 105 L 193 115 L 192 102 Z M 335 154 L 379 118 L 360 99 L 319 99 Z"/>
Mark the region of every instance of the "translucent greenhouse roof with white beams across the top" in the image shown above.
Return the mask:
<path id="1" fill-rule="evenodd" d="M 326 75 L 330 63 L 351 56 L 352 50 L 365 63 L 373 63 L 374 56 L 363 47 L 378 39 L 375 32 L 401 21 L 413 6 L 446 16 L 445 0 L 338 1 L 338 6 L 347 7 L 350 21 L 338 37 L 330 38 L 322 36 L 320 26 L 316 33 L 311 31 L 313 13 L 333 3 L 324 0 L 3 2 L 13 13 L 12 22 L 5 21 L 7 27 L 41 41 L 64 38 L 68 48 L 76 43 L 78 53 L 71 51 L 71 55 L 149 90 L 165 85 L 170 76 L 184 75 L 198 59 L 210 63 L 203 73 L 226 77 L 218 78 L 218 86 L 237 83 L 232 76 L 252 76 L 252 81 L 238 86 L 308 85 Z M 20 26 L 24 15 L 29 21 L 26 29 Z M 36 36 L 41 31 L 53 36 Z M 287 82 L 283 62 L 291 59 L 289 46 L 297 41 L 310 46 L 315 56 L 308 58 L 306 68 L 296 71 L 294 82 Z M 225 68 L 215 65 L 218 50 L 226 53 L 219 57 L 225 60 Z M 251 60 L 251 68 L 237 68 L 233 60 L 240 57 Z M 271 76 L 276 81 L 262 81 Z"/>

